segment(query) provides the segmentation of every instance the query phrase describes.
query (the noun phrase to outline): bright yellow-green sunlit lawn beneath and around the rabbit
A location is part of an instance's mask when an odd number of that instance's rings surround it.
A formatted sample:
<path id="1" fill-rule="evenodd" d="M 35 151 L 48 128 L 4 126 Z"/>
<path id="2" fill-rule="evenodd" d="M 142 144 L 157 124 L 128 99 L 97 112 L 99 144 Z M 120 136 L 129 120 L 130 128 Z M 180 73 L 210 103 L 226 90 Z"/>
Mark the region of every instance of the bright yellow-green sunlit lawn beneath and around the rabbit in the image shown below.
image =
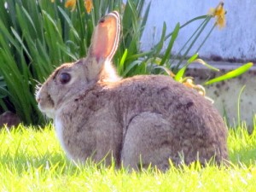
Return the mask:
<path id="1" fill-rule="evenodd" d="M 255 129 L 254 129 L 255 130 Z M 74 166 L 51 125 L 0 132 L 0 191 L 255 191 L 256 131 L 230 131 L 229 166 L 126 172 Z"/>

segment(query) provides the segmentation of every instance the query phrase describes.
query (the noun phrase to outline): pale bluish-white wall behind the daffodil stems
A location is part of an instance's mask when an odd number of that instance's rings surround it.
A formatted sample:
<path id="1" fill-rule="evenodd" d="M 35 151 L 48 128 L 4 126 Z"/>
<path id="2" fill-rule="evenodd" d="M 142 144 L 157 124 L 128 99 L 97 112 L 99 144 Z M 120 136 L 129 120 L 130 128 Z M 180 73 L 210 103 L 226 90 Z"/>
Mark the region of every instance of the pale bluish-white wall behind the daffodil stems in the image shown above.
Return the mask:
<path id="1" fill-rule="evenodd" d="M 149 0 L 146 2 L 148 3 Z M 172 32 L 177 22 L 183 24 L 196 16 L 206 15 L 210 8 L 215 8 L 218 5 L 219 0 L 151 0 L 151 2 L 148 24 L 142 39 L 143 49 L 150 49 L 153 44 L 158 42 L 164 21 L 166 21 L 167 32 Z M 224 9 L 227 10 L 226 27 L 222 30 L 216 28 L 212 32 L 211 37 L 200 50 L 200 56 L 210 58 L 211 55 L 218 55 L 225 59 L 255 60 L 256 1 L 226 0 L 224 1 Z M 214 20 L 211 20 L 208 30 L 213 23 Z M 183 46 L 197 25 L 198 23 L 192 24 L 182 29 L 177 42 L 174 44 L 174 52 L 177 53 Z M 206 35 L 207 31 L 204 34 Z"/>

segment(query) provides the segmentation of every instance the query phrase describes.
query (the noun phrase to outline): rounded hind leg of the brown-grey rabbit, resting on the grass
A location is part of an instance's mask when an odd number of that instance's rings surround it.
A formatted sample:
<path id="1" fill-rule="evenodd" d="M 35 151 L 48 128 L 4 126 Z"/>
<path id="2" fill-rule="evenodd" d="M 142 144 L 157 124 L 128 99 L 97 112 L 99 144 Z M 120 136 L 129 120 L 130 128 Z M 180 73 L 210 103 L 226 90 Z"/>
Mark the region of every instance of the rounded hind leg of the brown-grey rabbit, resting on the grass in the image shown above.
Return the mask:
<path id="1" fill-rule="evenodd" d="M 160 113 L 144 112 L 134 117 L 128 125 L 121 160 L 130 169 L 157 166 L 169 167 L 169 158 L 175 156 L 173 127 Z"/>

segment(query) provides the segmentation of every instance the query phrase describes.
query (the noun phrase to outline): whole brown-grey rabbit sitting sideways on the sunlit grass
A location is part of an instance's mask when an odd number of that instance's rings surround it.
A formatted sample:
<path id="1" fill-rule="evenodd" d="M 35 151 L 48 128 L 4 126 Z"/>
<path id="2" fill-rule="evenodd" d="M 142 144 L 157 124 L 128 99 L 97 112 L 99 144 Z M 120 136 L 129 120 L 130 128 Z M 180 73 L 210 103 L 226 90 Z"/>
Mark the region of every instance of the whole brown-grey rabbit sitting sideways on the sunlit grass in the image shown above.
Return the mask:
<path id="1" fill-rule="evenodd" d="M 87 57 L 57 67 L 36 93 L 68 159 L 134 170 L 228 160 L 227 128 L 211 102 L 166 75 L 117 75 L 119 33 L 118 12 L 102 17 Z"/>

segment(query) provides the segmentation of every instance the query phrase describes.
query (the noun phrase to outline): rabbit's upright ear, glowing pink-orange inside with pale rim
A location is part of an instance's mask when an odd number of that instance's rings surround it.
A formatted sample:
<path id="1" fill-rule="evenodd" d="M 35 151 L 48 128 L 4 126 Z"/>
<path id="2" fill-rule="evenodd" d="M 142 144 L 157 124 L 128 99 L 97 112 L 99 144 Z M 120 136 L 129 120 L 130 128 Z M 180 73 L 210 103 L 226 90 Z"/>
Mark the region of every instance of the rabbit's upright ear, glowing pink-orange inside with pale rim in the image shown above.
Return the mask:
<path id="1" fill-rule="evenodd" d="M 120 19 L 119 13 L 113 11 L 104 16 L 96 26 L 90 46 L 90 56 L 96 61 L 112 60 L 119 44 Z"/>

